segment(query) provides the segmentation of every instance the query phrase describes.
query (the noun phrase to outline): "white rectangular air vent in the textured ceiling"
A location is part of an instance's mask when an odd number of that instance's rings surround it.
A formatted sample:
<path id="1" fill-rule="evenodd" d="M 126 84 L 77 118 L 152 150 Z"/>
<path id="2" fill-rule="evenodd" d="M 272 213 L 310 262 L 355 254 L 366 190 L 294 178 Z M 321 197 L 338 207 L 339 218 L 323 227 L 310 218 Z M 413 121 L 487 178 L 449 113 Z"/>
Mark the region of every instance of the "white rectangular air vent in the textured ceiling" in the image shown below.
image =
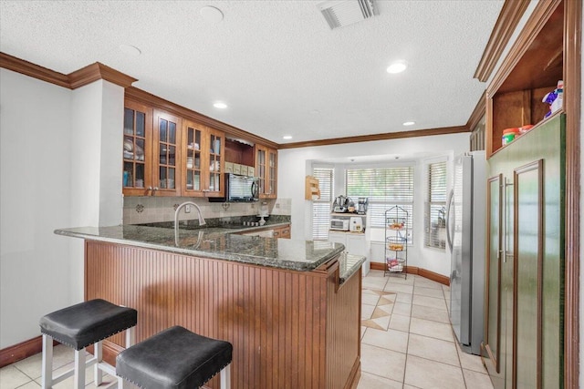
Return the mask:
<path id="1" fill-rule="evenodd" d="M 379 15 L 373 0 L 330 0 L 317 6 L 331 30 Z"/>

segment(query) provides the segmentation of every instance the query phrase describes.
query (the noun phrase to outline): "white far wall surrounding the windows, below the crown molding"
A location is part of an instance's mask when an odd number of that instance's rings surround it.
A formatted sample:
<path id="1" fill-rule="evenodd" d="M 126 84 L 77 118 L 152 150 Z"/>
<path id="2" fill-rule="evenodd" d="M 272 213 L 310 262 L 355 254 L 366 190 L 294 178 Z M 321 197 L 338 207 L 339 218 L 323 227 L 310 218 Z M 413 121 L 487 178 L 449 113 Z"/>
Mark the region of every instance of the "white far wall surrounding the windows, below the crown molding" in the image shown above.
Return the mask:
<path id="1" fill-rule="evenodd" d="M 312 203 L 304 200 L 304 179 L 312 171 L 313 163 L 324 159 L 349 159 L 363 156 L 401 155 L 415 156 L 424 153 L 433 155 L 454 155 L 468 151 L 469 134 L 450 134 L 432 137 L 378 140 L 355 144 L 319 146 L 311 148 L 288 148 L 278 151 L 278 196 L 292 200 L 292 234 L 294 237 L 311 239 Z M 422 160 L 417 160 L 414 168 L 414 247 L 408 252 L 408 261 L 439 274 L 450 274 L 450 254 L 448 252 L 424 249 L 423 246 L 423 188 L 424 175 Z M 401 163 L 402 164 L 402 163 Z M 286 178 L 286 179 L 282 179 Z M 339 187 L 335 179 L 335 187 Z M 337 193 L 335 193 L 337 194 Z M 377 233 L 373 233 L 377 239 Z M 381 234 L 382 236 L 382 234 Z"/>

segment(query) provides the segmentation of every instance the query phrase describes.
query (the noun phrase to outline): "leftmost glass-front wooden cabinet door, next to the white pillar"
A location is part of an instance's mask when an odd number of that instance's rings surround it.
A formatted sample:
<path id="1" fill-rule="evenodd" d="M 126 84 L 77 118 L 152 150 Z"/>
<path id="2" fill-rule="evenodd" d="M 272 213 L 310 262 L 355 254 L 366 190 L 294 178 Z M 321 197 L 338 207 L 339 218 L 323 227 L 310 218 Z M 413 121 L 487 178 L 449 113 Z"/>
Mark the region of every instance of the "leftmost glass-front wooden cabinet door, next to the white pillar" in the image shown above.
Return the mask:
<path id="1" fill-rule="evenodd" d="M 129 196 L 149 194 L 151 180 L 152 110 L 132 101 L 124 107 L 122 192 Z"/>

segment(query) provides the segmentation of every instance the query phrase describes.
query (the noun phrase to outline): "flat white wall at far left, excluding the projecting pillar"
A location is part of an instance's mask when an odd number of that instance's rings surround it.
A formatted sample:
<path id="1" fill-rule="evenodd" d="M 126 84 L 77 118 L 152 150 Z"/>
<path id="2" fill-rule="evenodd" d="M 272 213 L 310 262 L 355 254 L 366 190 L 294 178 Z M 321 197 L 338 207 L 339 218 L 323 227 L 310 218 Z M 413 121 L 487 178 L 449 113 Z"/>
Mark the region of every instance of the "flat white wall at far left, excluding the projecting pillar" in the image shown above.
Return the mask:
<path id="1" fill-rule="evenodd" d="M 0 68 L 0 348 L 71 302 L 71 91 Z"/>

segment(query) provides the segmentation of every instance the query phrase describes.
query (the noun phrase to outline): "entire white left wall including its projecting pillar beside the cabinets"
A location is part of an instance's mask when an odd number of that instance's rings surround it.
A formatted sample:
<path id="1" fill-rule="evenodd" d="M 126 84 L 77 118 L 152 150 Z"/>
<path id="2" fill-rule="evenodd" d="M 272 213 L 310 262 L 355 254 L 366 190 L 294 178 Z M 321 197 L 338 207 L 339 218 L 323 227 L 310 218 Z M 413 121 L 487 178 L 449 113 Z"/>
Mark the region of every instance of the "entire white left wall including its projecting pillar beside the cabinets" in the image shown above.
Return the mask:
<path id="1" fill-rule="evenodd" d="M 0 349 L 83 300 L 83 241 L 54 230 L 121 223 L 123 96 L 0 69 Z"/>

